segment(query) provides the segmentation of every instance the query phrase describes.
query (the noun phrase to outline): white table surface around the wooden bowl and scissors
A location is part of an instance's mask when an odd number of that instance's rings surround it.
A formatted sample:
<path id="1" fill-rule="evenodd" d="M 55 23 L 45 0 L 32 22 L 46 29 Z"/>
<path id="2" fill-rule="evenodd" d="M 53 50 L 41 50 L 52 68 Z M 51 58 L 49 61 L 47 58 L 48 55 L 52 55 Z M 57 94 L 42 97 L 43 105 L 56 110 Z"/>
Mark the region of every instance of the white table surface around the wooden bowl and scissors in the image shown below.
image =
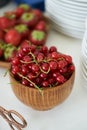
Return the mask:
<path id="1" fill-rule="evenodd" d="M 9 5 L 0 8 L 0 14 L 15 8 Z M 37 111 L 22 104 L 14 95 L 6 69 L 0 68 L 0 106 L 14 109 L 22 114 L 28 125 L 24 130 L 87 130 L 87 90 L 82 86 L 80 55 L 82 40 L 74 39 L 54 30 L 49 33 L 47 46 L 55 45 L 62 53 L 72 56 L 76 66 L 75 83 L 72 93 L 65 102 L 48 111 Z M 10 130 L 0 117 L 0 130 Z"/>

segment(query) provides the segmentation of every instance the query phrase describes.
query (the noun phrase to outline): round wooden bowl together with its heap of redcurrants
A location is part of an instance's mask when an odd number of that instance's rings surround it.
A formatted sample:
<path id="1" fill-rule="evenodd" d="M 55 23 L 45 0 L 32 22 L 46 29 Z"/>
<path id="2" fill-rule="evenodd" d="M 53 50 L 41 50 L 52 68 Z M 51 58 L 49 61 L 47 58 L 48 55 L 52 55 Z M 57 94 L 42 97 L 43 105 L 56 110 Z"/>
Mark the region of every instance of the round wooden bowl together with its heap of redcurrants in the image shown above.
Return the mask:
<path id="1" fill-rule="evenodd" d="M 71 93 L 75 66 L 72 57 L 34 45 L 21 48 L 11 61 L 9 70 L 16 97 L 36 110 L 49 110 L 62 103 Z"/>

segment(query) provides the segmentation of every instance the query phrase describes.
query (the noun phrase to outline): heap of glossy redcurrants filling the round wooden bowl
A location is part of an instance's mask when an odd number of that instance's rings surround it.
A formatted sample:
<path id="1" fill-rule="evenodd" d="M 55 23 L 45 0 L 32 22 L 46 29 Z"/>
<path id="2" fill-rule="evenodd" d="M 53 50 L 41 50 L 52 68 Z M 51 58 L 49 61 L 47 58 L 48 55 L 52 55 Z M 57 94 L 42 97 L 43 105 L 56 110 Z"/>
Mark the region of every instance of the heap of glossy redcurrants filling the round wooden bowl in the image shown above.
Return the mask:
<path id="1" fill-rule="evenodd" d="M 63 84 L 74 70 L 72 57 L 58 52 L 55 46 L 30 45 L 19 49 L 10 71 L 23 85 L 42 89 Z"/>

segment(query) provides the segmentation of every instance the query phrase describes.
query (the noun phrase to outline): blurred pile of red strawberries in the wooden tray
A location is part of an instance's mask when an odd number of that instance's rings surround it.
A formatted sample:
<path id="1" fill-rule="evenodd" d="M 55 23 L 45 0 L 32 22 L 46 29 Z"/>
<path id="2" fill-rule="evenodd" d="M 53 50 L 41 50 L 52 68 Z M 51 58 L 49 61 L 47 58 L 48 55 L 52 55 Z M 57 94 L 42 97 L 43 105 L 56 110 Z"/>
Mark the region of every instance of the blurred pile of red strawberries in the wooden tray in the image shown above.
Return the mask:
<path id="1" fill-rule="evenodd" d="M 43 13 L 21 4 L 0 17 L 0 60 L 11 61 L 19 47 L 27 40 L 35 46 L 46 42 L 48 23 Z"/>

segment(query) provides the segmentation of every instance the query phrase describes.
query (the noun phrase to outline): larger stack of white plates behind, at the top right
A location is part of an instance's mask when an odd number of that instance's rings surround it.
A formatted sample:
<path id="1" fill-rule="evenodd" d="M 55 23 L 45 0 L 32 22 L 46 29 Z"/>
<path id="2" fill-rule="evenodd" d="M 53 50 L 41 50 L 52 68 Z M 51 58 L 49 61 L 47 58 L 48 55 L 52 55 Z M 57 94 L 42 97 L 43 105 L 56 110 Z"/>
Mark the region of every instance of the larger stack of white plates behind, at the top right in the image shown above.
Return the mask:
<path id="1" fill-rule="evenodd" d="M 56 30 L 72 37 L 83 37 L 87 0 L 45 0 L 45 8 Z"/>

